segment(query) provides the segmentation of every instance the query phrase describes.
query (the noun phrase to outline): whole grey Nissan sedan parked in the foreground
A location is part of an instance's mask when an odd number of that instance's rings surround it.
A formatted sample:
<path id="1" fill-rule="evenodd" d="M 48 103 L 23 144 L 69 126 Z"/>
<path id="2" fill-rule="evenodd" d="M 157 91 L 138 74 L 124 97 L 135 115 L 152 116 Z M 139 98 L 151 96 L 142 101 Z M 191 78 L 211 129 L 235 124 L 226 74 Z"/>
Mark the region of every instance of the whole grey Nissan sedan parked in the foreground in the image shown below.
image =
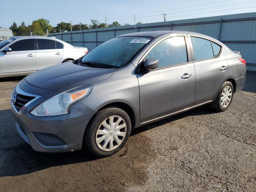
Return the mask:
<path id="1" fill-rule="evenodd" d="M 245 77 L 240 53 L 214 38 L 138 32 L 27 76 L 11 105 L 18 133 L 34 150 L 86 147 L 104 157 L 120 150 L 133 128 L 204 104 L 226 110 Z"/>

